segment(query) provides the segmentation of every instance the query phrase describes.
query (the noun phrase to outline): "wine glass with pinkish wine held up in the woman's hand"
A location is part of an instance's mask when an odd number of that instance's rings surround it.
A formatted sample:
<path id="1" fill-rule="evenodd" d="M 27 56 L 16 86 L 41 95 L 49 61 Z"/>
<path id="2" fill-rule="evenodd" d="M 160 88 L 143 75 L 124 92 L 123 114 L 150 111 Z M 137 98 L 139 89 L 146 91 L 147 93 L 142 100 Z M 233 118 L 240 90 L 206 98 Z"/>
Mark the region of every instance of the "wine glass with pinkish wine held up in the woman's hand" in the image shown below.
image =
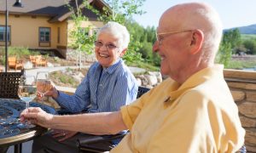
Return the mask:
<path id="1" fill-rule="evenodd" d="M 36 82 L 38 88 L 38 98 L 44 105 L 44 95 L 49 92 L 49 89 L 52 87 L 49 80 L 49 73 L 47 71 L 38 71 Z"/>

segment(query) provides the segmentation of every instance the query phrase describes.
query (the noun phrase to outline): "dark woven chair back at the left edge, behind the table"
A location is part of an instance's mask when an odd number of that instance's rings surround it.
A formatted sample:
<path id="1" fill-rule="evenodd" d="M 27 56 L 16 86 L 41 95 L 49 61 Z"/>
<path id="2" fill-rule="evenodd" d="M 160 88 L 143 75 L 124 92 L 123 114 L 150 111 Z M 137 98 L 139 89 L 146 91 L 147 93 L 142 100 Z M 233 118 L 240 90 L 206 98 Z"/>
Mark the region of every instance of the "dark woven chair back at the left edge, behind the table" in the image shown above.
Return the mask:
<path id="1" fill-rule="evenodd" d="M 24 70 L 20 72 L 0 72 L 0 98 L 20 99 L 18 88 L 20 77 L 23 74 Z"/>

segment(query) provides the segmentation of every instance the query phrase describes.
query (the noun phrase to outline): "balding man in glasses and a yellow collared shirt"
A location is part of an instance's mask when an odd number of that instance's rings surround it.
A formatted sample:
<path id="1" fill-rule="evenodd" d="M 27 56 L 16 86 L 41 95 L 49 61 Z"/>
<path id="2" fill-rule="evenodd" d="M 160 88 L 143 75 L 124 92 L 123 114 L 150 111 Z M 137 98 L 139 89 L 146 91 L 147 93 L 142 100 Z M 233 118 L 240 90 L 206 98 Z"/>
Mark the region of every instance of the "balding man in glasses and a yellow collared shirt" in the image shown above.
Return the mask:
<path id="1" fill-rule="evenodd" d="M 130 129 L 112 152 L 235 152 L 245 131 L 223 66 L 213 64 L 221 36 L 213 8 L 176 5 L 162 14 L 153 48 L 161 57 L 160 71 L 170 78 L 121 111 L 53 116 L 30 108 L 21 119 L 85 133 Z"/>

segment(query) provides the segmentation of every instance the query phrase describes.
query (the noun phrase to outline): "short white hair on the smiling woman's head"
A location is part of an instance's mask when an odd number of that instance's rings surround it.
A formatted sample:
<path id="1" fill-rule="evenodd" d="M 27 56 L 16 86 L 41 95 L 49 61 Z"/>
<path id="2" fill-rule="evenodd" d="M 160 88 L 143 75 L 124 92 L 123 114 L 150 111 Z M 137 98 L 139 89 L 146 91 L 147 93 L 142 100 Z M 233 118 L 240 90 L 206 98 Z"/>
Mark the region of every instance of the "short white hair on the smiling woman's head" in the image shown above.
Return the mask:
<path id="1" fill-rule="evenodd" d="M 113 37 L 116 37 L 119 40 L 119 48 L 128 48 L 130 34 L 125 26 L 122 26 L 117 22 L 109 21 L 105 26 L 102 26 L 102 28 L 97 31 L 96 37 L 98 37 L 102 32 L 108 32 Z"/>

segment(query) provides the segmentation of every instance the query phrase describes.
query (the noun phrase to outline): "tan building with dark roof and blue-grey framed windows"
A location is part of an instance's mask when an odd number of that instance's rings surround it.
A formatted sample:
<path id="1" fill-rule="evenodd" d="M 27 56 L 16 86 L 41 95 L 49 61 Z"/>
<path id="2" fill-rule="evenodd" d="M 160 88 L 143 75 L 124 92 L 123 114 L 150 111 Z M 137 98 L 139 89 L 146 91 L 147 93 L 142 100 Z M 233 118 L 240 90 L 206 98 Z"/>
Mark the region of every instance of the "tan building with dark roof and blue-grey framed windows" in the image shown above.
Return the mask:
<path id="1" fill-rule="evenodd" d="M 70 17 L 73 11 L 67 8 L 67 3 L 76 8 L 75 0 L 21 0 L 22 7 L 14 7 L 15 0 L 7 2 L 9 46 L 56 50 L 66 56 L 71 41 L 68 34 L 73 28 Z M 102 0 L 88 2 L 98 10 L 107 6 Z M 0 0 L 0 46 L 5 44 L 5 6 L 5 0 Z M 78 6 L 83 8 L 82 1 L 78 0 Z M 89 21 L 84 21 L 82 26 L 103 26 L 90 10 L 84 8 L 83 14 Z"/>

